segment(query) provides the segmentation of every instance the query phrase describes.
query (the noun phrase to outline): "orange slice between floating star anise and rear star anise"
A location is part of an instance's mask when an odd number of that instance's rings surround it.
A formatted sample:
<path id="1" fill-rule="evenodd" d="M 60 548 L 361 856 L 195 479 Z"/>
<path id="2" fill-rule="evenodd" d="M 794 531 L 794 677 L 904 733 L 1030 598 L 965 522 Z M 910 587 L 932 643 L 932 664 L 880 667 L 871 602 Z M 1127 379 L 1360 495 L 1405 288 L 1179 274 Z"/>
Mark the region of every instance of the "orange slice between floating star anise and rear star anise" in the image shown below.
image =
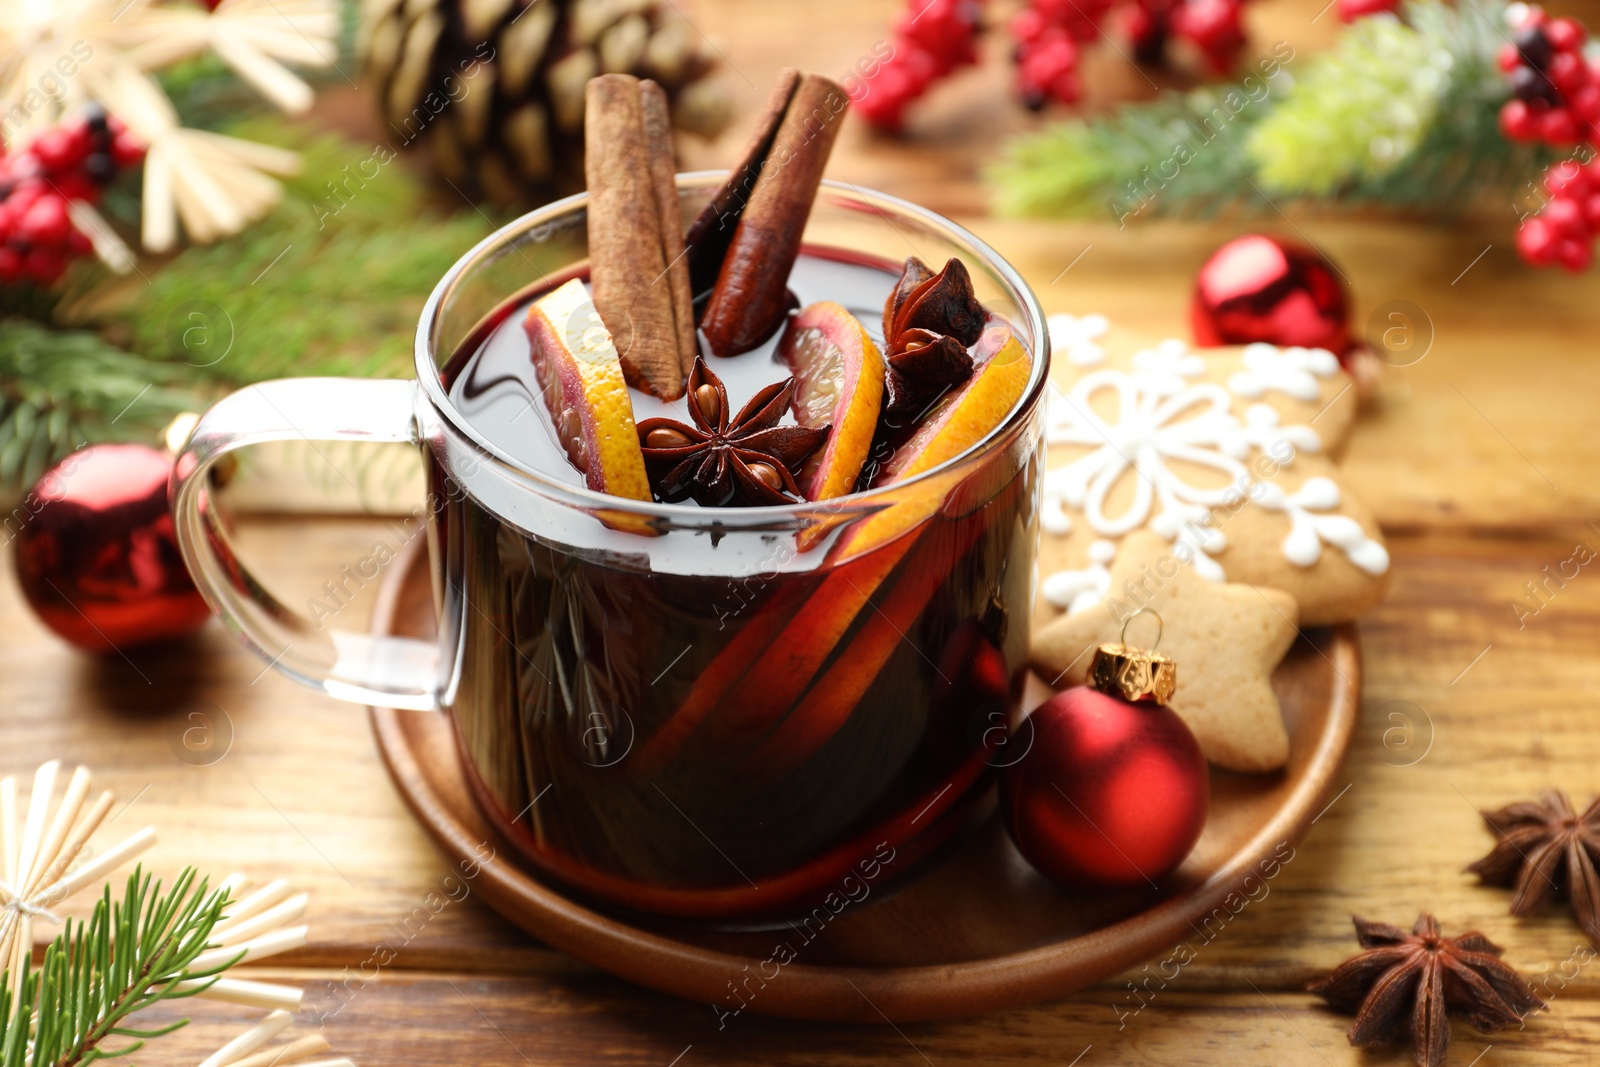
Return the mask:
<path id="1" fill-rule="evenodd" d="M 808 501 L 856 486 L 883 403 L 883 354 L 854 315 L 832 301 L 811 304 L 789 323 L 779 357 L 795 376 L 800 426 L 832 426 L 827 443 L 800 472 Z"/>

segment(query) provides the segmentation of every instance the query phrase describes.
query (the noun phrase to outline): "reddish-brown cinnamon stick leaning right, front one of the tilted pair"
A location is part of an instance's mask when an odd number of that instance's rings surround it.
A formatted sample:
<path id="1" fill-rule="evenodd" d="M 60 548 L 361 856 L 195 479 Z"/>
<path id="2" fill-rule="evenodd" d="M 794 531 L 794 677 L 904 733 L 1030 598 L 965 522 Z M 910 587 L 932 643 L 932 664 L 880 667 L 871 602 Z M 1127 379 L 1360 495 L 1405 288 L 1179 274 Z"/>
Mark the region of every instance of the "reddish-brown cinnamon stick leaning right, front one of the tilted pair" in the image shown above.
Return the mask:
<path id="1" fill-rule="evenodd" d="M 789 272 L 848 106 L 845 91 L 821 75 L 795 86 L 701 322 L 715 355 L 749 352 L 782 323 Z"/>

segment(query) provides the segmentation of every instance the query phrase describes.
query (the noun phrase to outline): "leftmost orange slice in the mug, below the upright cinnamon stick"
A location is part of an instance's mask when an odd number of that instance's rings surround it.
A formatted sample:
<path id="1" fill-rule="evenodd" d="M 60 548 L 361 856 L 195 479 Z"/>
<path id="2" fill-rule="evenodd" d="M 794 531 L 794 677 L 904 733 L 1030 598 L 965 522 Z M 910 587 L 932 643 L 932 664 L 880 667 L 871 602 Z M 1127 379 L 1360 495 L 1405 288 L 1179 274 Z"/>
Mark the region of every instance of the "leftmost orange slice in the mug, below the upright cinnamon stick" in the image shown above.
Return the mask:
<path id="1" fill-rule="evenodd" d="M 534 301 L 526 328 L 533 370 L 566 458 L 590 490 L 648 501 L 622 363 L 582 280 Z"/>

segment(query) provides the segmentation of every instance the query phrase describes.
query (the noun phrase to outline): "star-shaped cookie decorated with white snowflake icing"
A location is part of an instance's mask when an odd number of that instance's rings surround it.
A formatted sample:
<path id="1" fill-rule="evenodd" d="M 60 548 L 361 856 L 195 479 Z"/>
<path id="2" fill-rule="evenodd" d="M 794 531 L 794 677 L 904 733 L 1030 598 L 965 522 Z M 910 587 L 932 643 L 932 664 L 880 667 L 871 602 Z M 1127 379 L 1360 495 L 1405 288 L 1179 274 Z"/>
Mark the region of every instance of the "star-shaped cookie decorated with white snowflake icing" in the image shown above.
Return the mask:
<path id="1" fill-rule="evenodd" d="M 1101 362 L 1051 374 L 1040 625 L 1093 603 L 1136 530 L 1203 579 L 1290 593 L 1307 625 L 1382 597 L 1389 552 L 1334 464 L 1357 398 L 1333 354 L 1152 344 L 1117 326 L 1096 346 Z"/>

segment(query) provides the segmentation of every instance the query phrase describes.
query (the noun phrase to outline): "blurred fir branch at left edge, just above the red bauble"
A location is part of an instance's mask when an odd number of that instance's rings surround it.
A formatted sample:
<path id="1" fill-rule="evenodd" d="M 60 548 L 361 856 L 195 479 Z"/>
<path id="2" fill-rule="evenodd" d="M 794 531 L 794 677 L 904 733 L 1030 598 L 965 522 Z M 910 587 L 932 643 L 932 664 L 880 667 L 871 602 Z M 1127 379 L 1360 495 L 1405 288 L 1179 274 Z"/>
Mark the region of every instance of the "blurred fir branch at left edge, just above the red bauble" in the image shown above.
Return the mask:
<path id="1" fill-rule="evenodd" d="M 96 333 L 0 322 L 0 485 L 32 485 L 85 443 L 149 437 L 198 408 L 181 378 Z"/>

